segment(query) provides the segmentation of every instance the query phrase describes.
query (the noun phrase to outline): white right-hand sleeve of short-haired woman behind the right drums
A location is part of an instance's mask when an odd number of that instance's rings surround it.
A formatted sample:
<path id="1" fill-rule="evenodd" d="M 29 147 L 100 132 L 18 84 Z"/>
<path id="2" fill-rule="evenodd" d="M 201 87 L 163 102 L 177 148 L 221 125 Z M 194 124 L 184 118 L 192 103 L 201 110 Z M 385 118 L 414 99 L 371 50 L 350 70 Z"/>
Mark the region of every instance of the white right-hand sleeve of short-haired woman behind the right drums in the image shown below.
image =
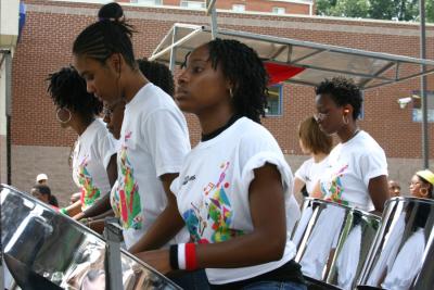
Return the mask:
<path id="1" fill-rule="evenodd" d="M 369 150 L 360 159 L 361 176 L 365 185 L 369 186 L 372 178 L 385 175 L 387 176 L 387 161 L 383 149 Z"/>

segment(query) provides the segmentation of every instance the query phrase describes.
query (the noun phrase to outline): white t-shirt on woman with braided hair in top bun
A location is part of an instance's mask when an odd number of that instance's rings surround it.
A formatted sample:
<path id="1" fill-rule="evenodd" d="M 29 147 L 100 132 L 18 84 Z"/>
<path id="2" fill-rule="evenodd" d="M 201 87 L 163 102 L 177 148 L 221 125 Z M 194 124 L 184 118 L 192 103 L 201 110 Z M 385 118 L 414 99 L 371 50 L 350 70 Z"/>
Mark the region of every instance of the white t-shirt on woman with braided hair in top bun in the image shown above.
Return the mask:
<path id="1" fill-rule="evenodd" d="M 151 83 L 143 86 L 125 106 L 117 153 L 114 212 L 120 214 L 127 248 L 144 235 L 167 205 L 158 177 L 179 173 L 189 151 L 181 111 L 161 88 Z M 183 235 L 188 239 L 187 230 Z"/>

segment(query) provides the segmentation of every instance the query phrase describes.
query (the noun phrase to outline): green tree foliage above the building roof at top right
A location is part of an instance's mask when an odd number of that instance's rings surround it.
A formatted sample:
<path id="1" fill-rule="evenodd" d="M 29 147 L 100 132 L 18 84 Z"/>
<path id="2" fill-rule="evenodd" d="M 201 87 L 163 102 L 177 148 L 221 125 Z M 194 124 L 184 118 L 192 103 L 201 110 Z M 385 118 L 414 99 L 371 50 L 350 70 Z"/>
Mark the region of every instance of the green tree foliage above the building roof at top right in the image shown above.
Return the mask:
<path id="1" fill-rule="evenodd" d="M 434 22 L 434 0 L 425 0 L 426 22 Z M 317 0 L 317 14 L 393 21 L 419 21 L 419 0 Z"/>

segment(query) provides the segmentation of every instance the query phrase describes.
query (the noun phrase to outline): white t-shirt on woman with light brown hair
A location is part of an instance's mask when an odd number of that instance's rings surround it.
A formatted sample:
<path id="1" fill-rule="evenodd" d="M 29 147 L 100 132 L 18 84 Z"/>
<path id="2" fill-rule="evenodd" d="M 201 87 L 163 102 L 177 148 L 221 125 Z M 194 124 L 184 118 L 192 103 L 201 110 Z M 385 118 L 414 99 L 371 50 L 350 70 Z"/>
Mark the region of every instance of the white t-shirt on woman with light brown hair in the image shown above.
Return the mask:
<path id="1" fill-rule="evenodd" d="M 320 162 L 316 163 L 314 157 L 306 160 L 303 162 L 302 166 L 295 172 L 295 177 L 299 178 L 306 185 L 306 190 L 309 194 L 315 189 L 315 186 L 318 184 L 318 179 L 321 175 L 326 173 L 326 169 L 329 166 L 328 157 L 324 157 Z"/>

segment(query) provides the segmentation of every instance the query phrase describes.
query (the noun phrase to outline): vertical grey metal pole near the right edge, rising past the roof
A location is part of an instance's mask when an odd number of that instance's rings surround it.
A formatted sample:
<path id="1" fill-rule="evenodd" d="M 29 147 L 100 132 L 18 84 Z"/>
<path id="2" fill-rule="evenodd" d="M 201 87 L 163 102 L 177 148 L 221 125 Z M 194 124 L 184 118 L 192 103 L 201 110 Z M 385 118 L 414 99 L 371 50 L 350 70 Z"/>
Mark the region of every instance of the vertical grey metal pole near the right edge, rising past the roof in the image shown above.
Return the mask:
<path id="1" fill-rule="evenodd" d="M 419 0 L 419 16 L 420 16 L 420 54 L 421 59 L 426 59 L 426 37 L 425 37 L 425 0 Z M 422 73 L 426 70 L 422 65 Z M 422 159 L 423 168 L 430 167 L 430 144 L 427 131 L 427 100 L 426 100 L 426 76 L 421 77 L 421 99 L 422 99 Z"/>

